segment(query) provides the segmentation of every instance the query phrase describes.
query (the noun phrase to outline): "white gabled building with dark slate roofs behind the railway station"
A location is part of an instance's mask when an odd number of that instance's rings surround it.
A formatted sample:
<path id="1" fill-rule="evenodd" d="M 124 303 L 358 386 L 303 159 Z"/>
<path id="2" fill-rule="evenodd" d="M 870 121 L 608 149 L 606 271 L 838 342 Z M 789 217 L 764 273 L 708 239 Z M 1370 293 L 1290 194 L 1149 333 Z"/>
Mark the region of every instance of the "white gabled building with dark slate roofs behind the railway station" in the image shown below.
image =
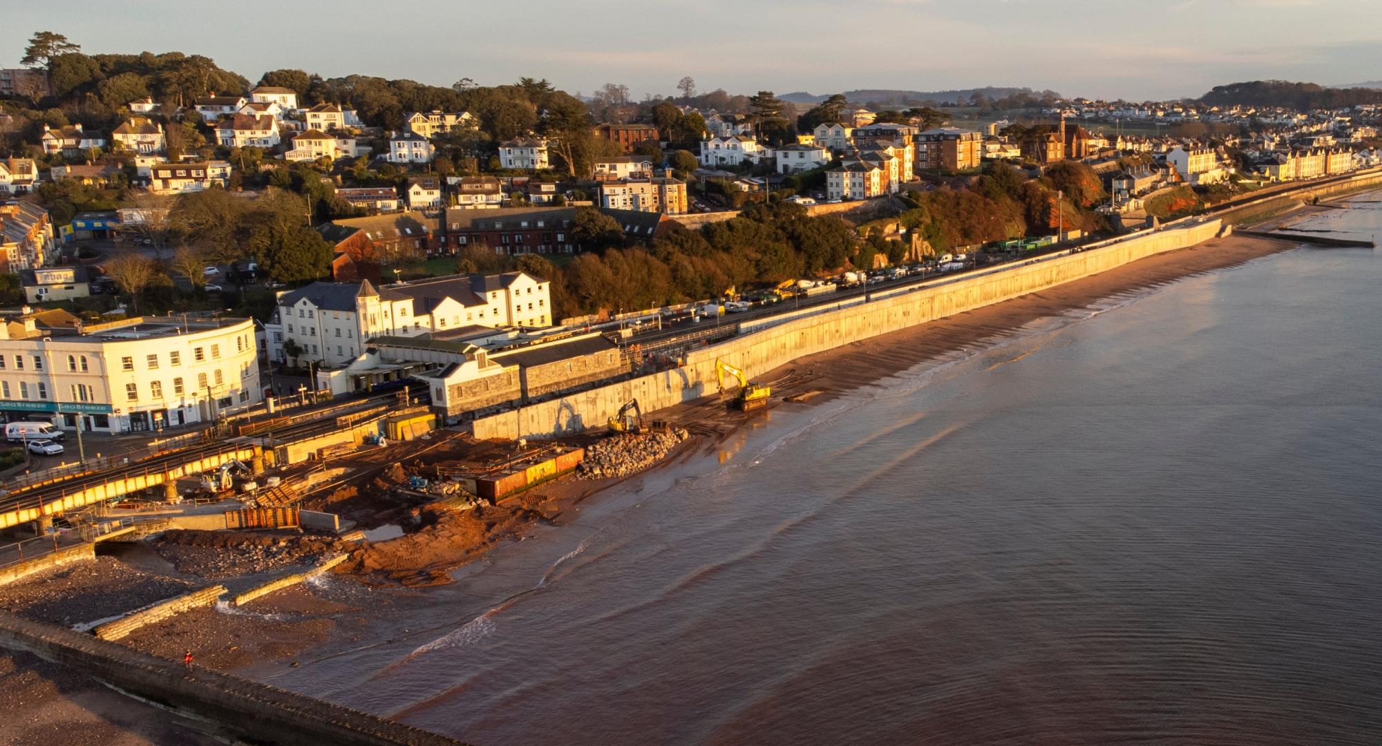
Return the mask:
<path id="1" fill-rule="evenodd" d="M 524 272 L 452 275 L 377 290 L 369 280 L 314 282 L 279 293 L 276 318 L 265 325 L 268 352 L 275 361 L 293 358 L 336 367 L 355 359 L 366 341 L 380 336 L 416 337 L 467 326 L 550 326 L 549 286 Z"/>

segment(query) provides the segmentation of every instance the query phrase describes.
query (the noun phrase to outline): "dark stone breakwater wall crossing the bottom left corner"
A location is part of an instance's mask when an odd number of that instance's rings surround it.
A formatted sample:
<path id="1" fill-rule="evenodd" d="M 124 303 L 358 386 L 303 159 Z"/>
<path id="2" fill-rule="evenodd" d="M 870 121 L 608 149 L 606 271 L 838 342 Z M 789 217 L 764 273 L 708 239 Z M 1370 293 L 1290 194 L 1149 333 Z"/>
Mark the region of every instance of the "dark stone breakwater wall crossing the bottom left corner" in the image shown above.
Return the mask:
<path id="1" fill-rule="evenodd" d="M 0 613 L 0 648 L 62 663 L 124 692 L 193 718 L 218 723 L 252 743 L 310 746 L 456 746 L 401 723 L 200 666 L 141 653 L 117 642 Z"/>

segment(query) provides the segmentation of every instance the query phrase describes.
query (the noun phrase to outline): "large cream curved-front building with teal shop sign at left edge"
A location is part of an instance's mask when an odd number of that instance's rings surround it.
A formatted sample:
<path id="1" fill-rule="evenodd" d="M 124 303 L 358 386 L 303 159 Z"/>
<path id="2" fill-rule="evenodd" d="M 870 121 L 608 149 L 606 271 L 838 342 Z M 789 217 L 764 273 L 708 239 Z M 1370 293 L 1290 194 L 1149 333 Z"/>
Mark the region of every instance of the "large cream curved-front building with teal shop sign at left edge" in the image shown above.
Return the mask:
<path id="1" fill-rule="evenodd" d="M 0 414 L 138 432 L 258 402 L 253 319 L 144 319 L 76 329 L 15 319 L 0 332 Z"/>

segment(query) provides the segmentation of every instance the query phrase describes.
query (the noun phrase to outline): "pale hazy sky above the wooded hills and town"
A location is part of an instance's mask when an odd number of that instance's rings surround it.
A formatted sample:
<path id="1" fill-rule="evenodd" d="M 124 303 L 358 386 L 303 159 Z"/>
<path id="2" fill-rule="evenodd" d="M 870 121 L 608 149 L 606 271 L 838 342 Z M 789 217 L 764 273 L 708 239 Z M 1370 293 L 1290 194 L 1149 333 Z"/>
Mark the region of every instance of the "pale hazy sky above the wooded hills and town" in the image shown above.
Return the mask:
<path id="1" fill-rule="evenodd" d="M 300 68 L 448 86 L 546 77 L 636 98 L 701 90 L 1028 86 L 1169 98 L 1280 77 L 1382 79 L 1382 0 L 77 0 L 7 3 L 0 66 L 35 30 L 83 51 L 205 54 L 253 83 Z"/>

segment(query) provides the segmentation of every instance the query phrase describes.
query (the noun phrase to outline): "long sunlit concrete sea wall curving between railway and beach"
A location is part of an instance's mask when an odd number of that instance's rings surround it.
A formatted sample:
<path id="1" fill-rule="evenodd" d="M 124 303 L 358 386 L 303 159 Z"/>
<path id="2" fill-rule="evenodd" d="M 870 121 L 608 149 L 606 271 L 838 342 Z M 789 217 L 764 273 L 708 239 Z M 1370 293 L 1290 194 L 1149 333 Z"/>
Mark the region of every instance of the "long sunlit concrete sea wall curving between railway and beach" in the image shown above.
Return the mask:
<path id="1" fill-rule="evenodd" d="M 1103 242 L 1081 251 L 969 272 L 873 294 L 849 307 L 774 318 L 724 343 L 697 350 L 673 370 L 641 376 L 471 423 L 475 438 L 551 438 L 605 424 L 629 399 L 651 412 L 714 394 L 714 361 L 761 376 L 797 358 L 1086 278 L 1153 254 L 1186 249 L 1224 231 L 1219 220 L 1193 220 L 1155 232 Z"/>

